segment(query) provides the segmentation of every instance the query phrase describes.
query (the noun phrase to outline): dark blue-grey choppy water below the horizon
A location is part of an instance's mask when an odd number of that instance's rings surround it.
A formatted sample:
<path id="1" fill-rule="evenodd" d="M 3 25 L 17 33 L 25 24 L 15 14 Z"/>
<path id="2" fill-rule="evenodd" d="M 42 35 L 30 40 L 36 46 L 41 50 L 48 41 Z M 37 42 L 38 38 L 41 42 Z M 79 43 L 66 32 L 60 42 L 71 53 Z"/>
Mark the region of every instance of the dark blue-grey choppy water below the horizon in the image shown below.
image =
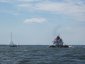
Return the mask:
<path id="1" fill-rule="evenodd" d="M 85 46 L 0 46 L 0 64 L 85 64 Z"/>

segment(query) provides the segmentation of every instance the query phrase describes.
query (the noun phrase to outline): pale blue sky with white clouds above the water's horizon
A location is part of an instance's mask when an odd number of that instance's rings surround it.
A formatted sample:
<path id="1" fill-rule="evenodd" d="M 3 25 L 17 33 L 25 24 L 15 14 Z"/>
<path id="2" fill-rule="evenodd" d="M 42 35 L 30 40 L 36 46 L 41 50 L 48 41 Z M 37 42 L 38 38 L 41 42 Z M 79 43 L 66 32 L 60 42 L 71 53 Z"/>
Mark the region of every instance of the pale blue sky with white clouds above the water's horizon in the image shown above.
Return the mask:
<path id="1" fill-rule="evenodd" d="M 85 0 L 0 0 L 0 44 L 85 45 Z"/>

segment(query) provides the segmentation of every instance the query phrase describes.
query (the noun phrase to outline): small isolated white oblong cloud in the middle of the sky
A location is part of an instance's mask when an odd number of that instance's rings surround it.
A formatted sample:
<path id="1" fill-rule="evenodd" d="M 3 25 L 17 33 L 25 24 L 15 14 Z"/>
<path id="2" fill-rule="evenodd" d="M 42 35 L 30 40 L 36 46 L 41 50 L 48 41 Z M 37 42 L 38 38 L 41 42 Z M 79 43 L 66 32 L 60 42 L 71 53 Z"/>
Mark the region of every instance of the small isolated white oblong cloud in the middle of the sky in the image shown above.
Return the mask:
<path id="1" fill-rule="evenodd" d="M 45 18 L 40 18 L 40 17 L 37 17 L 37 18 L 28 18 L 28 19 L 25 19 L 25 21 L 24 21 L 24 23 L 26 23 L 26 24 L 44 23 L 44 22 L 47 22 L 47 20 Z"/>

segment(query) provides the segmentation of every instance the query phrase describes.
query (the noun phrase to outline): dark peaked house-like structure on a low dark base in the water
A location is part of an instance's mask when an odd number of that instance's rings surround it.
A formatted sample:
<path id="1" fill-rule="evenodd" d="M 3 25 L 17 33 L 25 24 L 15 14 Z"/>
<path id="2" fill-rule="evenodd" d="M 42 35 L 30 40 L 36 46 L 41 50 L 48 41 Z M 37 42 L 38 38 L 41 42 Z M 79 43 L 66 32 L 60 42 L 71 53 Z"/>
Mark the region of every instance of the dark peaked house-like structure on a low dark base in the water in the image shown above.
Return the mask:
<path id="1" fill-rule="evenodd" d="M 62 38 L 60 38 L 60 36 L 58 35 L 55 39 L 54 39 L 54 41 L 53 41 L 53 44 L 54 45 L 51 45 L 51 46 L 49 46 L 49 47 L 53 47 L 53 48 L 55 48 L 55 47 L 57 47 L 57 48 L 69 48 L 69 46 L 68 45 L 63 45 L 63 40 L 62 40 Z"/>

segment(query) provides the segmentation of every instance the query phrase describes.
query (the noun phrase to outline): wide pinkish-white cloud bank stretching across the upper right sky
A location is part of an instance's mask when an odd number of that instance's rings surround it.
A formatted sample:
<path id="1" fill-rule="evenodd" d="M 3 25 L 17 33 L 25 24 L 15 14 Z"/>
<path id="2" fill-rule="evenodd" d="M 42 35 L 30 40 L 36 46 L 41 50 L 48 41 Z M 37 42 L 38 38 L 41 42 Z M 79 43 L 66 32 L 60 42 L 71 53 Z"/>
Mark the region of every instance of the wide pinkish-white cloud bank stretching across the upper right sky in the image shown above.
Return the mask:
<path id="1" fill-rule="evenodd" d="M 28 3 L 29 4 L 29 3 Z M 85 4 L 80 0 L 64 0 L 63 2 L 43 1 L 37 3 L 20 4 L 20 8 L 33 9 L 34 11 L 49 11 L 71 16 L 74 20 L 85 21 Z"/>

